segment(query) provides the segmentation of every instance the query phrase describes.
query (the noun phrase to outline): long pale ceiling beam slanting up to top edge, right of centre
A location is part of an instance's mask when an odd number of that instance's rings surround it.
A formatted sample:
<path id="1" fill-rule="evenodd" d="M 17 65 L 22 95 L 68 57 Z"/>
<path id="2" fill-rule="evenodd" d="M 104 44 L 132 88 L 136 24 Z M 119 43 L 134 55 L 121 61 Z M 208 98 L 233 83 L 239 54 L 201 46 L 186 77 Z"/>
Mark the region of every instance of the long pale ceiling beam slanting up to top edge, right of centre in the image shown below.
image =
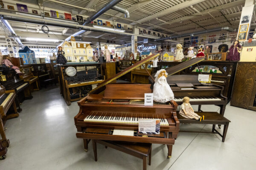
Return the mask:
<path id="1" fill-rule="evenodd" d="M 153 20 L 155 18 L 162 17 L 162 16 L 164 16 L 166 14 L 170 14 L 172 12 L 178 11 L 180 9 L 183 9 L 183 8 L 186 8 L 186 7 L 189 7 L 189 6 L 192 6 L 192 5 L 204 2 L 204 1 L 205 0 L 189 0 L 189 1 L 184 1 L 183 3 L 179 3 L 179 4 L 175 5 L 175 6 L 167 8 L 167 9 L 165 9 L 163 11 L 160 11 L 160 12 L 158 12 L 156 14 L 153 14 L 153 15 L 150 15 L 150 16 L 145 17 L 143 19 L 137 20 L 137 22 L 145 23 L 145 22 Z M 135 25 L 135 24 L 136 23 L 131 23 L 130 25 Z"/>

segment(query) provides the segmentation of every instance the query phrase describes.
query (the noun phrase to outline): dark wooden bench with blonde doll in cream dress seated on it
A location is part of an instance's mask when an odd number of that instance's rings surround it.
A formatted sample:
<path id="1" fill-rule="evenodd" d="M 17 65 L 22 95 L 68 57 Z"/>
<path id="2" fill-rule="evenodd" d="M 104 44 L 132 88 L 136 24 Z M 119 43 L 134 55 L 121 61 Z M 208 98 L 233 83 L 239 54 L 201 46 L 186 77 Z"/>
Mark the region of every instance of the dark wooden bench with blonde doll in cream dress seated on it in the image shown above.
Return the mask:
<path id="1" fill-rule="evenodd" d="M 202 119 L 201 122 L 195 119 L 187 119 L 181 116 L 177 111 L 177 118 L 179 119 L 180 123 L 199 123 L 199 124 L 210 124 L 212 125 L 212 131 L 189 131 L 189 130 L 180 130 L 180 132 L 194 132 L 194 133 L 218 133 L 222 137 L 222 142 L 225 142 L 227 128 L 230 123 L 230 120 L 221 116 L 218 112 L 195 112 L 199 116 L 204 115 L 204 120 Z M 218 130 L 215 129 L 215 125 L 224 125 L 223 133 L 219 133 Z"/>

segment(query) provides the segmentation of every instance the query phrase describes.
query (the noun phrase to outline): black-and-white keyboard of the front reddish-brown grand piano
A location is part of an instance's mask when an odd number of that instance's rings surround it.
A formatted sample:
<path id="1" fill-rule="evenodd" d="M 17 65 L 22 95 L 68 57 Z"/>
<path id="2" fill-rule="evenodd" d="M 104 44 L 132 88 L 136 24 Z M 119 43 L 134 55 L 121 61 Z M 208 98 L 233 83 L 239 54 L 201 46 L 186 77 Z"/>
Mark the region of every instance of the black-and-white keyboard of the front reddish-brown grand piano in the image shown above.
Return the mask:
<path id="1" fill-rule="evenodd" d="M 168 126 L 169 123 L 164 115 L 133 114 L 133 113 L 90 113 L 85 117 L 84 122 L 105 122 L 138 124 L 139 119 L 160 119 L 160 125 Z"/>

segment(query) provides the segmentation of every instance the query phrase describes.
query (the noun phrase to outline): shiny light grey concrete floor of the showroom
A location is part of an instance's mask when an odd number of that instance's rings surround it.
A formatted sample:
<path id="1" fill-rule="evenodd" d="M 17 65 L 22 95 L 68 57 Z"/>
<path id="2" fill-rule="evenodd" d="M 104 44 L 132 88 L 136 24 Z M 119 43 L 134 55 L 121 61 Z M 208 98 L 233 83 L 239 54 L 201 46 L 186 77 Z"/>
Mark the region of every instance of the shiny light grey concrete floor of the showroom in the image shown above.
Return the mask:
<path id="1" fill-rule="evenodd" d="M 91 143 L 84 152 L 73 119 L 79 107 L 76 102 L 67 106 L 58 87 L 36 91 L 33 96 L 23 102 L 18 118 L 6 122 L 10 147 L 0 170 L 142 170 L 141 159 L 101 144 L 97 162 Z M 202 110 L 218 111 L 218 107 L 207 105 Z M 171 159 L 166 159 L 166 146 L 153 144 L 148 170 L 255 170 L 256 112 L 227 105 L 225 116 L 231 121 L 225 143 L 216 134 L 179 133 Z M 211 128 L 180 126 L 182 130 Z"/>

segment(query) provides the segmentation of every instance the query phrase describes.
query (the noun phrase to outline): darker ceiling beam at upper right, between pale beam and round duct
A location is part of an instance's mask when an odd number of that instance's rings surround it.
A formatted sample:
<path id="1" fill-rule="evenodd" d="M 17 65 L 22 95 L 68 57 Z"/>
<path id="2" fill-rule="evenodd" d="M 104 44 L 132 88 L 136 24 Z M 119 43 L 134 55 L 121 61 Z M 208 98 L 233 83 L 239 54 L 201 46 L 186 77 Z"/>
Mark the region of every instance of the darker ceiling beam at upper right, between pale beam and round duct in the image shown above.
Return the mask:
<path id="1" fill-rule="evenodd" d="M 195 17 L 201 16 L 202 14 L 207 15 L 208 12 L 209 13 L 218 12 L 218 11 L 221 11 L 221 10 L 224 10 L 224 9 L 227 9 L 227 8 L 231 8 L 231 7 L 235 7 L 235 6 L 239 6 L 239 5 L 243 5 L 243 4 L 244 4 L 244 0 L 236 0 L 236 1 L 233 1 L 233 2 L 230 2 L 230 3 L 226 3 L 224 5 L 221 5 L 221 6 L 216 6 L 216 7 L 207 9 L 205 11 L 201 11 L 200 13 L 196 12 L 195 14 L 192 14 L 192 15 L 189 15 L 189 16 L 180 17 L 180 18 L 177 18 L 175 20 L 168 21 L 166 23 L 161 23 L 161 24 L 158 24 L 157 26 L 163 26 L 163 25 L 166 25 L 166 24 L 173 24 L 173 23 L 177 23 L 177 22 L 180 22 L 180 21 L 191 20 Z"/>

